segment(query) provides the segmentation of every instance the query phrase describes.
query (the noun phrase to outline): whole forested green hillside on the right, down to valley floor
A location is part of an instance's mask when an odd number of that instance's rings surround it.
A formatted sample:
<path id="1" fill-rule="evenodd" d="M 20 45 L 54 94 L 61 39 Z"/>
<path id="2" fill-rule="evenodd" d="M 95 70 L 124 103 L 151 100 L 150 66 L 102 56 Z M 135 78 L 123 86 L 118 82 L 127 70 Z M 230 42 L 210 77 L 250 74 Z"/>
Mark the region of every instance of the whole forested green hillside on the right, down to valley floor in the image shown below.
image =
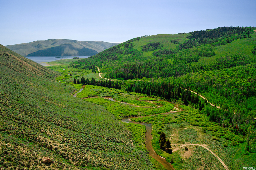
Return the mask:
<path id="1" fill-rule="evenodd" d="M 106 78 L 131 79 L 120 82 L 128 91 L 157 95 L 169 101 L 180 95 L 184 104 L 207 115 L 209 121 L 240 134 L 246 150 L 255 152 L 255 44 L 254 27 L 143 36 L 74 62 L 70 67 L 97 66 L 106 72 Z M 202 107 L 195 102 L 194 95 L 188 95 L 186 90 L 177 91 L 177 86 L 202 94 L 221 109 Z"/>

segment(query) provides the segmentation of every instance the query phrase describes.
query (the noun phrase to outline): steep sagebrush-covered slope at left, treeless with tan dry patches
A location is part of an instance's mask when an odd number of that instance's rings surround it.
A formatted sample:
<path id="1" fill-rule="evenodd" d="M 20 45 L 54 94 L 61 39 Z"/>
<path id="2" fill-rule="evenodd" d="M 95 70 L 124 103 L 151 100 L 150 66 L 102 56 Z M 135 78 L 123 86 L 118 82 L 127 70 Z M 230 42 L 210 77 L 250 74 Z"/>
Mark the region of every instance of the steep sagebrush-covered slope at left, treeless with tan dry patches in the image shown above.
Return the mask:
<path id="1" fill-rule="evenodd" d="M 1 169 L 153 169 L 130 131 L 57 72 L 0 45 L 0 73 Z"/>

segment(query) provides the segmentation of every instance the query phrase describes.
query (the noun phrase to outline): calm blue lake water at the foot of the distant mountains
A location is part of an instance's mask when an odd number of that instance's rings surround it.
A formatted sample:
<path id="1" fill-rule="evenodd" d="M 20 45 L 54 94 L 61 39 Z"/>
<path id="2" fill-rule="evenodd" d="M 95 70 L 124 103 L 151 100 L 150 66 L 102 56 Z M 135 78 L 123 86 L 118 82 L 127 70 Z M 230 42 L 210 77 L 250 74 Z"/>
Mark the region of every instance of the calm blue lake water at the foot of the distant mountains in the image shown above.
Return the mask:
<path id="1" fill-rule="evenodd" d="M 73 57 L 79 57 L 79 58 L 88 58 L 89 56 L 40 56 L 40 57 L 26 57 L 30 60 L 33 60 L 41 65 L 44 65 L 46 62 L 65 59 L 65 58 L 56 58 L 56 57 L 65 57 L 66 59 L 73 58 Z"/>

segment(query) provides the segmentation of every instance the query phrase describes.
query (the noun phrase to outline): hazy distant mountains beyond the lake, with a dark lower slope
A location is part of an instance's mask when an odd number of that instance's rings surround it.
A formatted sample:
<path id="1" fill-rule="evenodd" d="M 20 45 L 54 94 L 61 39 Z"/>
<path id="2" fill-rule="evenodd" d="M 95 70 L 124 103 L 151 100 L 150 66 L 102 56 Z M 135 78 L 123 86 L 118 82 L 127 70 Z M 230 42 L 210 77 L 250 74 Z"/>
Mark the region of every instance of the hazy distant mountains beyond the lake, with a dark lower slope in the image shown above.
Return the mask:
<path id="1" fill-rule="evenodd" d="M 5 47 L 22 56 L 93 56 L 118 44 L 120 43 L 49 39 Z"/>

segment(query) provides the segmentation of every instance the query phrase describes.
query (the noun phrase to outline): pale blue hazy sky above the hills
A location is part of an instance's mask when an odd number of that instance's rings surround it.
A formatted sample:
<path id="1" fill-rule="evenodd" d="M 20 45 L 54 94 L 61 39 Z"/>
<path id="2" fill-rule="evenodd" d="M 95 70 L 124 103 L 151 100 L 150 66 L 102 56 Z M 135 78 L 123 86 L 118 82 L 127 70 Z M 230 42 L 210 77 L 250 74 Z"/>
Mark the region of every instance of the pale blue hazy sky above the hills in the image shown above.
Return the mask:
<path id="1" fill-rule="evenodd" d="M 0 44 L 55 38 L 124 42 L 224 26 L 256 27 L 255 0 L 0 0 Z"/>

